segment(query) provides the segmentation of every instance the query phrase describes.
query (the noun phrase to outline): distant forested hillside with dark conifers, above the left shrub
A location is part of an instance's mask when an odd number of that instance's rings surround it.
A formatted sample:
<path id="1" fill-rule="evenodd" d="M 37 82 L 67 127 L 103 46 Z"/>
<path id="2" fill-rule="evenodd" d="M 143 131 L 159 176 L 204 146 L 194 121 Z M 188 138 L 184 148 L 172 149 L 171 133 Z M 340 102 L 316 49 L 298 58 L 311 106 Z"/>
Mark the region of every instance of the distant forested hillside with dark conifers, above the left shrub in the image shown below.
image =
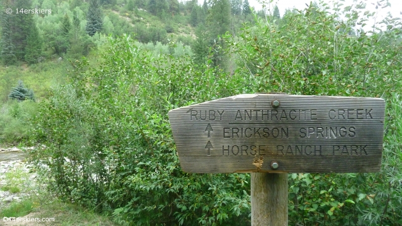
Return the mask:
<path id="1" fill-rule="evenodd" d="M 50 85 L 64 82 L 67 60 L 85 56 L 96 61 L 109 36 L 129 34 L 155 56 L 186 53 L 201 62 L 209 47 L 218 51 L 214 40 L 219 35 L 236 34 L 253 18 L 248 2 L 239 0 L 205 1 L 202 6 L 195 0 L 5 0 L 0 7 L 2 101 L 20 79 L 44 96 Z M 42 13 L 24 14 L 22 9 Z M 215 63 L 222 64 L 218 58 Z"/>

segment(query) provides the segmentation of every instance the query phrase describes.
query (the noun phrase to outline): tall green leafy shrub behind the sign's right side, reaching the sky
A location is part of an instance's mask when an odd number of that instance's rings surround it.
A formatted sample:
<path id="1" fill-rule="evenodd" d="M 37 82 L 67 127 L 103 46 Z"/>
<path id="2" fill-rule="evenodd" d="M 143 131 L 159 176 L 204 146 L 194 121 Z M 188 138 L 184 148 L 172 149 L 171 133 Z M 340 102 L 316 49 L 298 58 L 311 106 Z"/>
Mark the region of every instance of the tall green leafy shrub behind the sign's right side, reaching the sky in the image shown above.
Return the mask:
<path id="1" fill-rule="evenodd" d="M 381 171 L 290 174 L 288 217 L 296 225 L 402 225 L 400 139 L 395 139 L 401 105 L 393 95 L 402 87 L 401 22 L 385 18 L 380 25 L 390 25 L 386 30 L 376 24 L 356 35 L 354 28 L 366 21 L 359 17 L 364 6 L 341 6 L 335 4 L 337 13 L 331 14 L 329 7 L 311 4 L 286 12 L 280 21 L 268 14 L 253 27 L 246 24 L 240 39 L 226 39 L 239 66 L 235 73 L 249 77 L 243 86 L 257 92 L 386 99 Z"/>

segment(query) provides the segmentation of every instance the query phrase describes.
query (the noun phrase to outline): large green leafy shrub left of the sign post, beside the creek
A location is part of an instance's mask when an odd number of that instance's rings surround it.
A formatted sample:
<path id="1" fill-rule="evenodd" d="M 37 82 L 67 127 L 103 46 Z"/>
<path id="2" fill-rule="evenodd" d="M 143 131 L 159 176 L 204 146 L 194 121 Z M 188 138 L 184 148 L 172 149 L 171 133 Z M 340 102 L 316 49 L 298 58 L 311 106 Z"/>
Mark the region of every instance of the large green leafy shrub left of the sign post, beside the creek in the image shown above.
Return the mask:
<path id="1" fill-rule="evenodd" d="M 207 66 L 205 74 L 190 73 L 188 56 L 155 59 L 127 37 L 112 40 L 104 58 L 89 73 L 85 62 L 76 64 L 74 85 L 53 89 L 40 103 L 32 132 L 47 148 L 31 157 L 48 166 L 42 173 L 53 178 L 49 188 L 113 210 L 128 224 L 230 225 L 247 218 L 249 175 L 183 173 L 167 121 L 167 111 L 189 99 L 233 94 L 228 75 Z"/>

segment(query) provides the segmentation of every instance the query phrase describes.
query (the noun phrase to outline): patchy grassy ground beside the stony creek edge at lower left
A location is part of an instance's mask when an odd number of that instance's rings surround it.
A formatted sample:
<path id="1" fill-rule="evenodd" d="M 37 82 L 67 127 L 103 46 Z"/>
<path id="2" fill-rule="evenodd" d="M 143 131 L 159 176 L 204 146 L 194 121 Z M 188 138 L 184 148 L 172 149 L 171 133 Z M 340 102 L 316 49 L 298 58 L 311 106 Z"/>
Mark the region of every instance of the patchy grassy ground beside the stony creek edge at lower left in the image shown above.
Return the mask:
<path id="1" fill-rule="evenodd" d="M 29 196 L 22 197 L 21 202 L 13 201 L 9 206 L 0 207 L 0 218 L 22 217 L 29 214 L 31 218 L 54 218 L 54 221 L 40 222 L 32 225 L 118 225 L 109 217 L 78 206 L 75 203 L 65 203 L 47 191 L 47 178 L 32 179 L 32 173 L 25 172 L 21 166 L 10 168 L 5 173 L 5 185 L 0 190 L 11 193 L 24 192 Z"/>

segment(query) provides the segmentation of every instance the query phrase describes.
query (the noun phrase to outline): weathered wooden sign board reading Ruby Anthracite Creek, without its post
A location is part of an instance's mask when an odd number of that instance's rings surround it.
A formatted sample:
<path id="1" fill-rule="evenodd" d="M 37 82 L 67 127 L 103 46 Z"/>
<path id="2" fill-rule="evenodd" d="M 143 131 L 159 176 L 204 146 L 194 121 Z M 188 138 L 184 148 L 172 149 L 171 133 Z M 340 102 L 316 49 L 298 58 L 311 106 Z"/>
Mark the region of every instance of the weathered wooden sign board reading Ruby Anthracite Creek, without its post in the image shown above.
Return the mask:
<path id="1" fill-rule="evenodd" d="M 378 172 L 384 111 L 381 98 L 241 94 L 169 121 L 185 172 Z"/>

